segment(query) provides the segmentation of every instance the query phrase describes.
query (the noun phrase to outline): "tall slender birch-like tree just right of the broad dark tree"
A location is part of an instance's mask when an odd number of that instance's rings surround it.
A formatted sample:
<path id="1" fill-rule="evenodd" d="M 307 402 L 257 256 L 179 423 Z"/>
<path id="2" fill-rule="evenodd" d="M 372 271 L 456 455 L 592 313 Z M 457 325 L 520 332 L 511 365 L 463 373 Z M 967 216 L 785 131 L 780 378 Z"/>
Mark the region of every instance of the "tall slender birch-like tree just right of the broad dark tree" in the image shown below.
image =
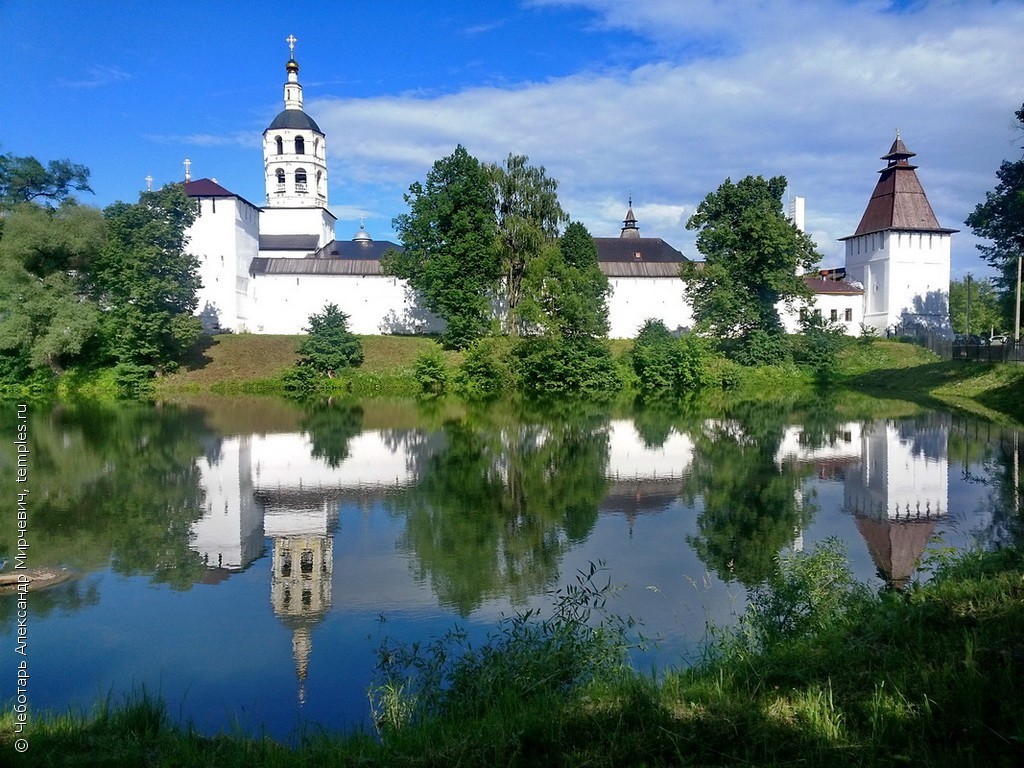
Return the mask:
<path id="1" fill-rule="evenodd" d="M 558 182 L 547 176 L 544 166 L 529 166 L 528 162 L 525 155 L 509 153 L 504 167 L 486 166 L 495 195 L 501 299 L 512 335 L 519 330 L 517 310 L 526 272 L 558 237 L 559 225 L 568 220 L 558 204 Z"/>

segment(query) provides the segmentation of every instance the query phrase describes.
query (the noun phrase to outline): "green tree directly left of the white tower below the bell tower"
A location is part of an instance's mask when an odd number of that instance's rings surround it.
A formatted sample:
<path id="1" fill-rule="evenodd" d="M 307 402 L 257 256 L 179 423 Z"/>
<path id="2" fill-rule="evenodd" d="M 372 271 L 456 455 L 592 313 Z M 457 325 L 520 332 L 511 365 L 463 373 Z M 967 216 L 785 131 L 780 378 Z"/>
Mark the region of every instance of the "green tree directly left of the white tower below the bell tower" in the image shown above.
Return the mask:
<path id="1" fill-rule="evenodd" d="M 177 367 L 202 325 L 194 316 L 199 262 L 185 251 L 196 203 L 182 184 L 115 203 L 103 215 L 109 239 L 90 275 L 115 358 L 156 371 Z"/>

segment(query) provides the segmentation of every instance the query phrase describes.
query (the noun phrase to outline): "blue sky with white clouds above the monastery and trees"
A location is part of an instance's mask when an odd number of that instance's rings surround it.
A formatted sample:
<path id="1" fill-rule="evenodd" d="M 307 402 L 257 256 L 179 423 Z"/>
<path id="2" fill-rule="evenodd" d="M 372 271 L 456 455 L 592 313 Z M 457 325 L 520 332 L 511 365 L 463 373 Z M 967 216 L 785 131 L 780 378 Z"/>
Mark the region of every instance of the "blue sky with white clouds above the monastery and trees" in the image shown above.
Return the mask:
<path id="1" fill-rule="evenodd" d="M 1024 0 L 0 0 L 0 153 L 69 159 L 105 206 L 211 177 L 265 201 L 262 133 L 294 35 L 327 136 L 337 236 L 397 241 L 410 184 L 458 144 L 526 155 L 591 232 L 699 259 L 726 179 L 785 176 L 841 266 L 898 130 L 952 276 L 990 274 L 964 220 L 1024 157 Z"/>

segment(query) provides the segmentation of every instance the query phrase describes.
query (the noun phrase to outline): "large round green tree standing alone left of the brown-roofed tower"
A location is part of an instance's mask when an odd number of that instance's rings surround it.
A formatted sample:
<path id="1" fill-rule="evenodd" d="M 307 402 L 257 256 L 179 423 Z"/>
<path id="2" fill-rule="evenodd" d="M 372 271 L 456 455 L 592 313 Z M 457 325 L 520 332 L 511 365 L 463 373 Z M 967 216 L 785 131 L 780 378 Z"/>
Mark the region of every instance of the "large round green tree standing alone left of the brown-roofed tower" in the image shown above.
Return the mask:
<path id="1" fill-rule="evenodd" d="M 814 268 L 821 257 L 782 213 L 785 186 L 783 176 L 726 179 L 686 223 L 697 230 L 697 250 L 706 258 L 702 268 L 689 264 L 683 275 L 698 330 L 736 340 L 739 347 L 761 337 L 781 342 L 778 303 L 811 297 L 798 270 Z"/>

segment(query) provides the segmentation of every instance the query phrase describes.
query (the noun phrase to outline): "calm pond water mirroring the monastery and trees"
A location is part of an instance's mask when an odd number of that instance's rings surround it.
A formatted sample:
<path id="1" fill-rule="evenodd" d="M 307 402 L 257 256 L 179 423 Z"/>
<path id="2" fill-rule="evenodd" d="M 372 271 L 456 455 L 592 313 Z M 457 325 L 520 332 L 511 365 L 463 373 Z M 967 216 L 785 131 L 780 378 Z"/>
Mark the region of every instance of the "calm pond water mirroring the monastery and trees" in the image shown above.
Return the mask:
<path id="1" fill-rule="evenodd" d="M 871 416 L 865 417 L 864 413 Z M 0 414 L 13 442 L 14 408 Z M 35 711 L 145 687 L 203 732 L 369 728 L 374 650 L 502 615 L 602 563 L 611 609 L 688 664 L 782 551 L 846 543 L 901 586 L 936 548 L 1019 541 L 1017 433 L 904 404 L 561 415 L 276 400 L 32 411 L 22 553 L 76 578 L 0 598 Z M 16 474 L 12 451 L 5 476 Z M 1016 490 L 1015 490 L 1016 488 Z M 19 553 L 14 504 L 0 560 Z"/>

